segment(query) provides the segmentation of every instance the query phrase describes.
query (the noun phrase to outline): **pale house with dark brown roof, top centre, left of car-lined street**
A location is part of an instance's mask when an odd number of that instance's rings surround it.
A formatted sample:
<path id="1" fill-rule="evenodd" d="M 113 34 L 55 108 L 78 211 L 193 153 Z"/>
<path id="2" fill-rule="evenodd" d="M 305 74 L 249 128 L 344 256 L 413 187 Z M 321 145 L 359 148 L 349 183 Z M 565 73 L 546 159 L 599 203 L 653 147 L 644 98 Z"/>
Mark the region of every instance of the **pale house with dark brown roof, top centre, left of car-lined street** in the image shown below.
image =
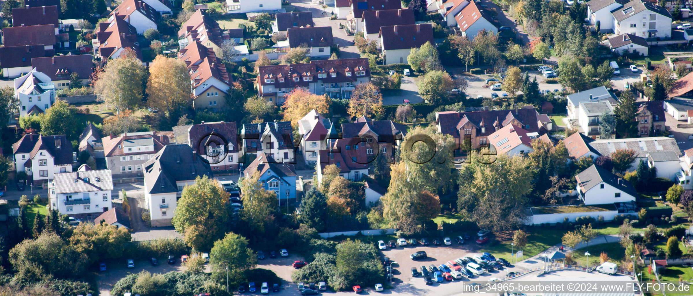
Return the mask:
<path id="1" fill-rule="evenodd" d="M 332 27 L 288 28 L 286 32 L 290 48 L 308 46 L 310 58 L 330 58 L 331 46 L 335 44 L 332 40 Z"/>

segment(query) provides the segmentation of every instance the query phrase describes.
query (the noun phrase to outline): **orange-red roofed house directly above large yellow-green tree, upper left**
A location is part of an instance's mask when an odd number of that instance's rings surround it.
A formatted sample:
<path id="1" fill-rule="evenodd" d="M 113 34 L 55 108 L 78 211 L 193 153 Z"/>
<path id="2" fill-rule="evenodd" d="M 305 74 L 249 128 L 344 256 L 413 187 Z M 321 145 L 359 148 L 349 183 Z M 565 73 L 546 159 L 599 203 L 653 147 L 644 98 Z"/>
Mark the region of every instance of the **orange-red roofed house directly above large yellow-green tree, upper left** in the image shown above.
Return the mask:
<path id="1" fill-rule="evenodd" d="M 120 17 L 109 17 L 105 23 L 98 24 L 96 38 L 91 40 L 94 55 L 102 60 L 118 58 L 125 49 L 132 49 L 139 60 L 142 52 L 137 41 L 137 29 Z"/>

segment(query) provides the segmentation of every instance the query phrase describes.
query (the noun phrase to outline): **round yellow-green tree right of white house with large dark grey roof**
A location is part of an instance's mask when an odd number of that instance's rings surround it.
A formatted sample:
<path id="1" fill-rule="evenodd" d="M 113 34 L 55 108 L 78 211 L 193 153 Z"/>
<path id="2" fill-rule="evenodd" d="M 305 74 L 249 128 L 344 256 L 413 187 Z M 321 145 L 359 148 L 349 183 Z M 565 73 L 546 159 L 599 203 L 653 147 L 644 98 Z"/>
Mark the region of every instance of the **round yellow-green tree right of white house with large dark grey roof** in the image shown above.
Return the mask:
<path id="1" fill-rule="evenodd" d="M 183 188 L 171 223 L 185 234 L 187 245 L 195 250 L 210 250 L 227 231 L 228 203 L 229 193 L 216 180 L 196 177 L 195 184 Z"/>

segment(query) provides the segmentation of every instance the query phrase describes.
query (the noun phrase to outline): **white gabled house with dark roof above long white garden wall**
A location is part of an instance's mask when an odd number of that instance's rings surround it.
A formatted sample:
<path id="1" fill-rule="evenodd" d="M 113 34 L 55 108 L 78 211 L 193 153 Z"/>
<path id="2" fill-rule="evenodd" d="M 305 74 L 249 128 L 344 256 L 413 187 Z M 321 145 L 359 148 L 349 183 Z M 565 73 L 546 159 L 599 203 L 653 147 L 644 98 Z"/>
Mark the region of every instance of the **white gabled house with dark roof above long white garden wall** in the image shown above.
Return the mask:
<path id="1" fill-rule="evenodd" d="M 601 166 L 593 164 L 577 174 L 575 180 L 577 192 L 586 205 L 614 204 L 617 209 L 635 207 L 638 192 L 633 184 Z"/>

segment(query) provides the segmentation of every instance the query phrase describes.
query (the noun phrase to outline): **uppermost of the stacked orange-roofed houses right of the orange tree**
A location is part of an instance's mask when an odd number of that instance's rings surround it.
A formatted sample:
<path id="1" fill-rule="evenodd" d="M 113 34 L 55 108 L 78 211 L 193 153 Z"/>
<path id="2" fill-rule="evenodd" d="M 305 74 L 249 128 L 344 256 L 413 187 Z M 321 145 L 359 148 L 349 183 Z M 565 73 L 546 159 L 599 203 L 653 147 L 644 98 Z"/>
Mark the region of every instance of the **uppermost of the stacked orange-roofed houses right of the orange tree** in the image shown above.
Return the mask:
<path id="1" fill-rule="evenodd" d="M 242 39 L 243 29 L 240 30 L 240 37 Z M 190 16 L 190 19 L 180 26 L 178 37 L 178 46 L 181 49 L 184 49 L 188 44 L 198 41 L 202 45 L 214 50 L 219 50 L 223 42 L 231 38 L 228 31 L 222 30 L 219 27 L 219 23 L 201 9 L 195 11 L 195 13 Z M 243 43 L 243 41 L 236 43 L 240 44 Z"/>

